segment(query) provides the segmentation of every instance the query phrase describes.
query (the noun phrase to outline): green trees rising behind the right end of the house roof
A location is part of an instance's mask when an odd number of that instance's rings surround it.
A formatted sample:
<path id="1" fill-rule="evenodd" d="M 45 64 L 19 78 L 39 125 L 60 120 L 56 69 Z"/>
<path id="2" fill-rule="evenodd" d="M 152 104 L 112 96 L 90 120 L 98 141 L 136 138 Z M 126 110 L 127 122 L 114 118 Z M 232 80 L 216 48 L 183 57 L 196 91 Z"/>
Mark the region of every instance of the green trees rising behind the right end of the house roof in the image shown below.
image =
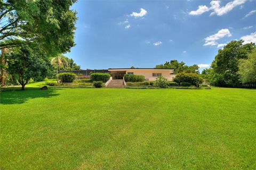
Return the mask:
<path id="1" fill-rule="evenodd" d="M 165 62 L 164 64 L 156 65 L 158 69 L 174 69 L 174 73 L 199 73 L 199 67 L 194 64 L 191 66 L 185 65 L 184 62 L 178 62 L 177 60 L 171 60 L 170 62 Z"/>

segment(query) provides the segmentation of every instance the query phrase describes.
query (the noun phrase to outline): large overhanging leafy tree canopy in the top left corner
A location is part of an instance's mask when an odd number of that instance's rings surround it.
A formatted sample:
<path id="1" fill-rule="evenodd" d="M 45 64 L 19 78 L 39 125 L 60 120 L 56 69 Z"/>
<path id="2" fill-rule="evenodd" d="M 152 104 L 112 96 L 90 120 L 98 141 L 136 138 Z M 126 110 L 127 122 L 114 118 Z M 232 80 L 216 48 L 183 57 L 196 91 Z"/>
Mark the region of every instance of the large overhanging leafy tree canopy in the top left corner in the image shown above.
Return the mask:
<path id="1" fill-rule="evenodd" d="M 0 0 L 0 49 L 37 44 L 55 56 L 75 45 L 75 0 Z"/>

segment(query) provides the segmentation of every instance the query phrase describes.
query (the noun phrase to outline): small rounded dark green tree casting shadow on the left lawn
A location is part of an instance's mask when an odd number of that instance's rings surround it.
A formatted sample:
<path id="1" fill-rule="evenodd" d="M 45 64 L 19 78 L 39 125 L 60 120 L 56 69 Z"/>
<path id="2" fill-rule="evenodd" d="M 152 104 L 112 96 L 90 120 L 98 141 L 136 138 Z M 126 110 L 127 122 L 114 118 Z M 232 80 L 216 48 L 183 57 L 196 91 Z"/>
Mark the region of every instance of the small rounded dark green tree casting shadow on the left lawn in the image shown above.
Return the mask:
<path id="1" fill-rule="evenodd" d="M 49 58 L 45 57 L 43 52 L 38 48 L 22 46 L 12 48 L 5 55 L 7 61 L 7 72 L 21 84 L 21 90 L 25 90 L 25 86 L 30 78 L 43 79 L 51 71 Z"/>

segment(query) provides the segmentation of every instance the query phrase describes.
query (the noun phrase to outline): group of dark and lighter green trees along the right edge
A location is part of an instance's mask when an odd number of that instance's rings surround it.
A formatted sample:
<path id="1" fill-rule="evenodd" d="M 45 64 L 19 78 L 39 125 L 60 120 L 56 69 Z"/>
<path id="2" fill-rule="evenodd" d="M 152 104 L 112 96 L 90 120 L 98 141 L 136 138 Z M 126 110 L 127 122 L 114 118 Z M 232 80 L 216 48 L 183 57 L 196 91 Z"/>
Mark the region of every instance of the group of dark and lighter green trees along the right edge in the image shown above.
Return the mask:
<path id="1" fill-rule="evenodd" d="M 219 49 L 211 67 L 202 71 L 202 77 L 219 87 L 256 84 L 256 46 L 243 43 L 235 40 Z"/>

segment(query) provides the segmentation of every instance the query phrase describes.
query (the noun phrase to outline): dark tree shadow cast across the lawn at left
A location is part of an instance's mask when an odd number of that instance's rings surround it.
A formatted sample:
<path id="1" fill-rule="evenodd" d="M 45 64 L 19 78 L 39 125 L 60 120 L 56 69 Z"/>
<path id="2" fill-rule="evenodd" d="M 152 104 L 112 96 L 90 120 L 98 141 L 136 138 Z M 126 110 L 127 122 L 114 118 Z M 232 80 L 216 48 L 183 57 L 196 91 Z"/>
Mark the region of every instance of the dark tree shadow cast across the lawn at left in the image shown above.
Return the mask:
<path id="1" fill-rule="evenodd" d="M 25 103 L 29 99 L 34 98 L 49 98 L 58 96 L 57 91 L 59 89 L 48 89 L 48 90 L 40 90 L 39 88 L 28 87 L 25 90 L 21 90 L 20 88 L 2 88 L 0 95 L 0 103 L 4 105 L 11 104 L 22 104 Z"/>

